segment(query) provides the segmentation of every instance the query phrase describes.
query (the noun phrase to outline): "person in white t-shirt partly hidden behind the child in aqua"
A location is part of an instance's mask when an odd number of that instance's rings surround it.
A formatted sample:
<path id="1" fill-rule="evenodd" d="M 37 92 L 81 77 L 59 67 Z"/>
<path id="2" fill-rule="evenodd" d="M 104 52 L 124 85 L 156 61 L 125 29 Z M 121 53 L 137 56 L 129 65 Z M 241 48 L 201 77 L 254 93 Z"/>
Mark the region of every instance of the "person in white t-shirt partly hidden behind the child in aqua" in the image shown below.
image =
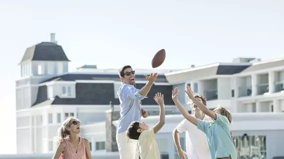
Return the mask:
<path id="1" fill-rule="evenodd" d="M 196 99 L 206 105 L 206 99 L 203 95 L 195 95 Z M 205 115 L 197 105 L 192 102 L 191 109 L 194 111 L 194 116 L 205 121 L 212 121 L 212 119 Z M 186 131 L 186 153 L 181 149 L 179 141 L 179 133 Z M 182 120 L 178 126 L 173 130 L 173 140 L 176 146 L 178 156 L 182 159 L 211 159 L 206 135 L 195 125 L 190 123 L 187 119 Z"/>

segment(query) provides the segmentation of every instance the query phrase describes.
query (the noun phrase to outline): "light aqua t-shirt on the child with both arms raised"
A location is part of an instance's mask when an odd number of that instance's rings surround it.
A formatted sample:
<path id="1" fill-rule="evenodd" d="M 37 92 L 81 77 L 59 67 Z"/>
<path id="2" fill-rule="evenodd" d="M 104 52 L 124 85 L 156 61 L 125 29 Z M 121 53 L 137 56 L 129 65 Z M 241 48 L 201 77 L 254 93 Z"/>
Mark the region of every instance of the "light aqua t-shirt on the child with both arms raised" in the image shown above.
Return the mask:
<path id="1" fill-rule="evenodd" d="M 225 158 L 237 159 L 237 152 L 231 138 L 229 120 L 226 116 L 215 113 L 216 121 L 197 120 L 197 128 L 207 137 L 211 159 Z"/>

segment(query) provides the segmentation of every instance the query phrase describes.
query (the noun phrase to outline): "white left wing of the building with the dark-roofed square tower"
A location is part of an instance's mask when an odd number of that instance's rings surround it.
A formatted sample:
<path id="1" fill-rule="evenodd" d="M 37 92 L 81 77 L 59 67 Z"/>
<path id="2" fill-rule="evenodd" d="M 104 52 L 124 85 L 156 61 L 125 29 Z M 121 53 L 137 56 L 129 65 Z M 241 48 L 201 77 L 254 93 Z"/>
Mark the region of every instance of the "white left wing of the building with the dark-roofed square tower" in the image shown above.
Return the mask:
<path id="1" fill-rule="evenodd" d="M 119 110 L 117 90 L 121 85 L 118 69 L 99 70 L 85 65 L 76 72 L 68 72 L 70 60 L 62 47 L 57 45 L 55 35 L 50 42 L 42 42 L 26 49 L 19 63 L 21 78 L 16 80 L 16 125 L 17 153 L 54 152 L 57 129 L 69 116 L 80 118 L 83 125 L 105 122 L 109 103 Z M 136 70 L 137 87 L 141 88 L 149 70 Z M 167 114 L 175 111 L 171 100 L 172 86 L 163 72 L 153 85 L 149 95 L 156 91 L 168 92 L 165 103 Z M 143 100 L 150 115 L 156 115 L 159 108 L 151 99 Z M 83 130 L 84 131 L 84 130 Z M 86 135 L 88 132 L 85 132 Z M 105 149 L 105 141 L 92 144 L 96 150 Z"/>

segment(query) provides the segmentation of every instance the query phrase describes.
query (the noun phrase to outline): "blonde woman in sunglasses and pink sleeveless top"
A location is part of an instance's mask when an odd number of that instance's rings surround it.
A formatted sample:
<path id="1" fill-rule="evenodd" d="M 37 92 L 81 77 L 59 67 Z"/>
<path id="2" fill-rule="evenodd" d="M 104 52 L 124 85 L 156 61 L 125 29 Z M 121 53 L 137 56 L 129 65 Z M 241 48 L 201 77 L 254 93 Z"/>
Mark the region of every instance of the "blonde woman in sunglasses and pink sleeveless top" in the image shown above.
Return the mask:
<path id="1" fill-rule="evenodd" d="M 80 137 L 80 120 L 69 117 L 58 129 L 58 142 L 56 153 L 52 159 L 92 159 L 88 139 Z"/>

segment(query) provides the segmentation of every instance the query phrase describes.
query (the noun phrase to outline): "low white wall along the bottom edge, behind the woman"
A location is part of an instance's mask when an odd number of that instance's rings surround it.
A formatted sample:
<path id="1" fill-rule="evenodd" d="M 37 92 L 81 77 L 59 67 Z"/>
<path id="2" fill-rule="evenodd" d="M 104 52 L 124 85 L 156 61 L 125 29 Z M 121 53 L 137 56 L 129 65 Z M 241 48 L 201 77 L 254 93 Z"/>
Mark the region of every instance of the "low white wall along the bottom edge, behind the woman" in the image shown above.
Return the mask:
<path id="1" fill-rule="evenodd" d="M 54 154 L 0 155 L 0 159 L 52 159 Z M 93 159 L 120 159 L 118 152 L 92 153 Z"/>

